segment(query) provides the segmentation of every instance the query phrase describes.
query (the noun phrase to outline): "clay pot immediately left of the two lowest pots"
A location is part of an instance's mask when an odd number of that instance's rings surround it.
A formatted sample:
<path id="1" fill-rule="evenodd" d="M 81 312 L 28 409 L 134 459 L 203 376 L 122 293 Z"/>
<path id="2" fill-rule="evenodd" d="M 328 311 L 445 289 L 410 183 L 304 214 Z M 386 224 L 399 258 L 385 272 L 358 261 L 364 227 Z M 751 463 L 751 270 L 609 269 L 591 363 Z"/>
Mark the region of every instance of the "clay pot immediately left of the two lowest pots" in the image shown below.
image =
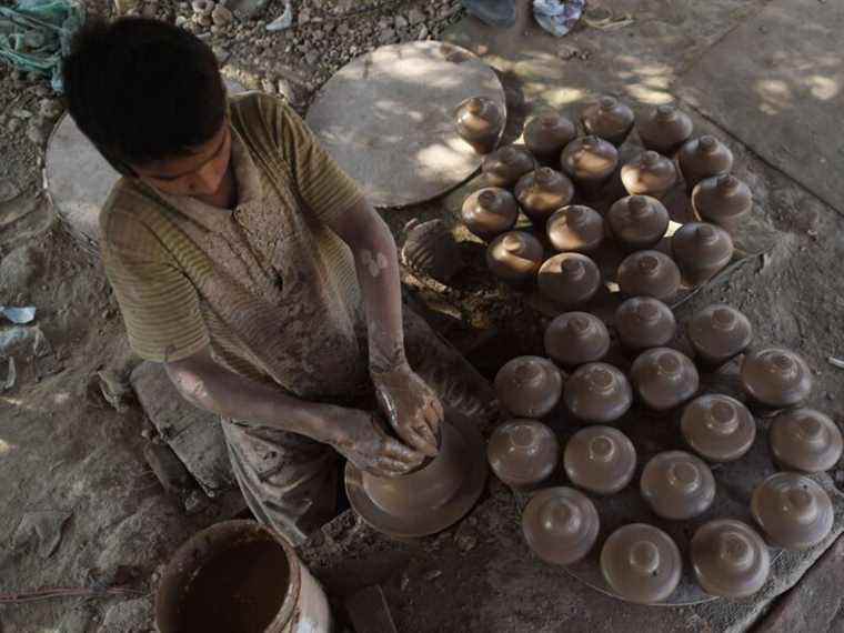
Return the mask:
<path id="1" fill-rule="evenodd" d="M 550 488 L 534 494 L 522 514 L 522 533 L 546 563 L 571 565 L 595 544 L 600 520 L 595 504 L 572 488 Z"/>

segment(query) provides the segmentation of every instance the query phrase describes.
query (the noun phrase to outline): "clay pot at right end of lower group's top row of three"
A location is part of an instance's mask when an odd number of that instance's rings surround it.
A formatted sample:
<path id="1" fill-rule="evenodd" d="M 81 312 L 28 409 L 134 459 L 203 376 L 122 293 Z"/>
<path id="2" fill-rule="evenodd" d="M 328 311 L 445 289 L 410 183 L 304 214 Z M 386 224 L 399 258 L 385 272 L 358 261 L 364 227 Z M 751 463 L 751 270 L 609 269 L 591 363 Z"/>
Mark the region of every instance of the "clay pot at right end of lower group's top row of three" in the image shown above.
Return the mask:
<path id="1" fill-rule="evenodd" d="M 715 303 L 694 313 L 686 334 L 700 362 L 717 368 L 747 349 L 753 340 L 753 326 L 735 308 Z"/>

